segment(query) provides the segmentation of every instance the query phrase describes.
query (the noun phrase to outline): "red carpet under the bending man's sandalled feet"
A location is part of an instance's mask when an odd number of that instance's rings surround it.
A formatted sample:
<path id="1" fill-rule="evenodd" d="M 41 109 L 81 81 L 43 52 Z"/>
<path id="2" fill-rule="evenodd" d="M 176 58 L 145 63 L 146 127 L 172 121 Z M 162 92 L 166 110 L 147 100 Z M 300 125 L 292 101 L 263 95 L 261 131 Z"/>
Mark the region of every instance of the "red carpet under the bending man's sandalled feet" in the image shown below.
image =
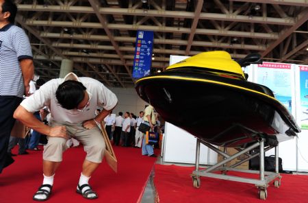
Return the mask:
<path id="1" fill-rule="evenodd" d="M 16 154 L 14 148 L 14 154 Z M 141 155 L 141 149 L 114 147 L 118 159 L 118 174 L 103 162 L 90 179 L 97 200 L 86 200 L 76 187 L 85 157 L 82 147 L 68 149 L 55 174 L 52 202 L 138 202 L 146 186 L 156 158 Z M 15 163 L 0 174 L 0 202 L 35 202 L 32 195 L 42 184 L 42 151 L 15 156 Z"/>

